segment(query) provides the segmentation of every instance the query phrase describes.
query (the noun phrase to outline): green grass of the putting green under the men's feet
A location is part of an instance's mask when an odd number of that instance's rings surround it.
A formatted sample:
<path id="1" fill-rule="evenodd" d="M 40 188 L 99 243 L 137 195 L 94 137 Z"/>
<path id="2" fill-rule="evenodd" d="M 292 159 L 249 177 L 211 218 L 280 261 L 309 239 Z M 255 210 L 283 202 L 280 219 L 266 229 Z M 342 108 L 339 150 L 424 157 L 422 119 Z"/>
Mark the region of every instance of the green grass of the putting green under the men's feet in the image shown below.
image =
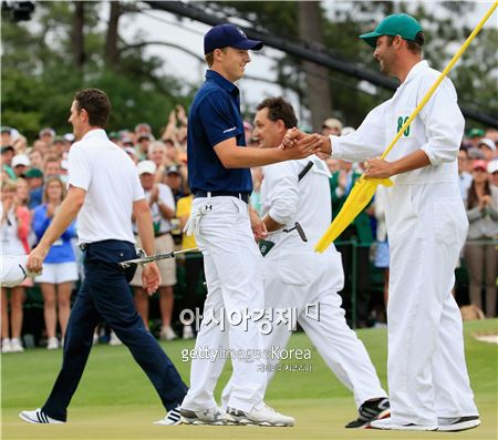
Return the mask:
<path id="1" fill-rule="evenodd" d="M 259 427 L 158 427 L 152 421 L 164 417 L 154 388 L 124 347 L 97 346 L 92 350 L 80 387 L 64 426 L 32 426 L 18 412 L 41 406 L 59 371 L 62 352 L 31 349 L 2 356 L 2 438 L 3 439 L 454 439 L 497 438 L 497 354 L 496 345 L 479 342 L 476 331 L 496 331 L 497 320 L 466 324 L 466 354 L 473 389 L 483 419 L 475 430 L 461 433 L 387 432 L 345 430 L 355 417 L 350 392 L 324 365 L 303 334 L 293 335 L 290 346 L 310 348 L 312 358 L 302 364 L 312 372 L 278 372 L 267 390 L 267 402 L 297 419 L 294 428 Z M 359 331 L 382 383 L 386 385 L 386 332 L 384 329 Z M 191 341 L 163 344 L 163 348 L 188 381 L 189 364 L 181 361 L 183 348 Z M 291 364 L 295 364 L 294 360 Z M 230 371 L 224 371 L 219 392 Z"/>

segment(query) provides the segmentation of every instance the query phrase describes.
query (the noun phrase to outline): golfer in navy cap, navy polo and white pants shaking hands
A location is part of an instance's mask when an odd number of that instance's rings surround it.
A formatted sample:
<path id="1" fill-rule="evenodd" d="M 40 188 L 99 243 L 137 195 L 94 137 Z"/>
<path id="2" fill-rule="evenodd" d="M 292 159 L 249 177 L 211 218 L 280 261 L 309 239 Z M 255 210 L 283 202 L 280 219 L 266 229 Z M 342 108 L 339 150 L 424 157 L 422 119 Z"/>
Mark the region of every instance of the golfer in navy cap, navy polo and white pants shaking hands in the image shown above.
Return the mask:
<path id="1" fill-rule="evenodd" d="M 262 350 L 262 335 L 250 318 L 264 307 L 261 254 L 256 238 L 266 227 L 248 206 L 252 191 L 251 166 L 302 158 L 313 153 L 300 149 L 247 147 L 240 115 L 239 89 L 250 62 L 249 50 L 262 48 L 234 24 L 211 28 L 204 39 L 209 70 L 194 99 L 188 117 L 188 176 L 194 194 L 187 234 L 195 233 L 204 254 L 208 296 L 196 349 L 217 349 L 211 359 L 194 357 L 190 390 L 183 405 L 183 421 L 208 424 L 292 426 L 293 418 L 263 402 L 266 374 L 245 356 Z M 238 319 L 242 317 L 242 324 Z M 234 366 L 234 390 L 228 409 L 219 409 L 214 389 L 227 354 Z"/>

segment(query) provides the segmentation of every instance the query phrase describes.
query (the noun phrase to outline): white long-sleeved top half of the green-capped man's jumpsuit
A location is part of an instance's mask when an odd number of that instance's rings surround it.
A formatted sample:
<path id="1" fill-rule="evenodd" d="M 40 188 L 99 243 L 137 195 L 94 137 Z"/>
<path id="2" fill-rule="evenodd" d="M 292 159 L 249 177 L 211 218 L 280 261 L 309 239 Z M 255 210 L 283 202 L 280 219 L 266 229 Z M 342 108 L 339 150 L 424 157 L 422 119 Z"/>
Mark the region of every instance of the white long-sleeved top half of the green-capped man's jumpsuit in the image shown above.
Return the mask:
<path id="1" fill-rule="evenodd" d="M 354 133 L 331 136 L 332 157 L 361 162 L 380 156 L 438 76 L 427 61 L 415 64 L 393 98 L 373 109 Z M 395 184 L 456 182 L 464 127 L 455 86 L 446 78 L 386 157 L 392 162 L 422 149 L 430 165 L 394 176 Z"/>

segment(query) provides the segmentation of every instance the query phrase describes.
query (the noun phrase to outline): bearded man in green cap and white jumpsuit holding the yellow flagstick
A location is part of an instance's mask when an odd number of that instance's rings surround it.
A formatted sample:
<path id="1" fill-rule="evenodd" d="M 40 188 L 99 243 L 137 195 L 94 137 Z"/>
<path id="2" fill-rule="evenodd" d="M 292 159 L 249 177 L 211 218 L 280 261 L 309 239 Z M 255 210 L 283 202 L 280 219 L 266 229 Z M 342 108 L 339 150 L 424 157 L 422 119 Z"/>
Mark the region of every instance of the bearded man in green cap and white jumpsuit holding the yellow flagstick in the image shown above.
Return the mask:
<path id="1" fill-rule="evenodd" d="M 361 35 L 381 70 L 401 81 L 356 132 L 324 139 L 334 158 L 365 161 L 366 176 L 392 177 L 386 227 L 391 246 L 387 377 L 391 418 L 373 428 L 457 431 L 480 424 L 452 288 L 468 222 L 458 188 L 464 117 L 445 79 L 385 161 L 382 154 L 439 72 L 422 60 L 424 34 L 406 14 Z M 299 134 L 304 139 L 304 135 Z M 299 142 L 298 142 L 299 144 Z"/>

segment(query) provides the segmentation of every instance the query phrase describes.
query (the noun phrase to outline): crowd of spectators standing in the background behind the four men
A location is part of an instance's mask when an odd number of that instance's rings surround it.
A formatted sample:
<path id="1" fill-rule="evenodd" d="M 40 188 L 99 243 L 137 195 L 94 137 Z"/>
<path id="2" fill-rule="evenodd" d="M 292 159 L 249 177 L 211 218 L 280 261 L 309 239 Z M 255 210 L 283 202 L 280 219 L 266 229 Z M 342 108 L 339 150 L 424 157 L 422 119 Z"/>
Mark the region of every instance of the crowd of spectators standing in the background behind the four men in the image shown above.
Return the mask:
<path id="1" fill-rule="evenodd" d="M 243 126 L 247 145 L 258 146 L 251 123 L 245 122 Z M 323 122 L 322 133 L 325 135 L 347 135 L 351 132 L 354 129 L 343 126 L 338 119 L 330 117 Z M 156 252 L 193 249 L 181 259 L 159 263 L 163 283 L 153 303 L 141 287 L 141 274 L 137 272 L 131 282 L 136 308 L 146 327 L 153 323 L 151 307 L 157 309 L 160 321 L 157 336 L 162 339 L 194 338 L 195 323 L 178 323 L 177 319 L 180 310 L 201 307 L 203 294 L 206 294 L 203 288 L 203 256 L 195 250 L 195 239 L 181 232 L 191 208 L 186 166 L 186 112 L 178 105 L 169 113 L 166 126 L 156 134 L 147 123 L 138 123 L 134 130 L 110 132 L 108 136 L 136 164 L 153 214 Z M 1 127 L 0 231 L 4 255 L 29 254 L 49 227 L 66 193 L 66 157 L 73 142 L 72 133 L 58 134 L 45 127 L 37 140 L 29 143 L 22 135 L 22 127 Z M 460 269 L 468 277 L 468 290 L 457 299 L 460 306 L 471 304 L 489 318 L 497 316 L 497 144 L 498 131 L 470 129 L 458 153 L 458 180 L 469 231 L 460 258 Z M 331 173 L 331 204 L 333 214 L 336 214 L 361 176 L 363 165 L 328 156 L 322 158 Z M 257 212 L 260 209 L 259 190 L 263 178 L 262 168 L 252 170 L 253 193 L 250 201 Z M 359 327 L 385 321 L 390 268 L 384 219 L 385 191 L 380 186 L 373 201 L 335 242 L 346 274 L 343 305 L 350 319 L 355 307 L 355 324 Z M 28 326 L 23 323 L 23 310 L 29 291 L 39 291 L 43 299 L 41 344 L 48 349 L 61 347 L 75 287 L 84 276 L 76 243 L 77 223 L 73 223 L 52 246 L 40 276 L 27 278 L 14 288 L 1 288 L 2 352 L 24 350 L 23 329 Z M 372 272 L 381 276 L 381 293 L 372 291 Z M 183 274 L 181 283 L 179 273 Z M 355 279 L 353 273 L 356 274 Z M 111 345 L 121 344 L 112 331 L 95 329 L 94 341 L 103 340 L 108 340 Z"/>

